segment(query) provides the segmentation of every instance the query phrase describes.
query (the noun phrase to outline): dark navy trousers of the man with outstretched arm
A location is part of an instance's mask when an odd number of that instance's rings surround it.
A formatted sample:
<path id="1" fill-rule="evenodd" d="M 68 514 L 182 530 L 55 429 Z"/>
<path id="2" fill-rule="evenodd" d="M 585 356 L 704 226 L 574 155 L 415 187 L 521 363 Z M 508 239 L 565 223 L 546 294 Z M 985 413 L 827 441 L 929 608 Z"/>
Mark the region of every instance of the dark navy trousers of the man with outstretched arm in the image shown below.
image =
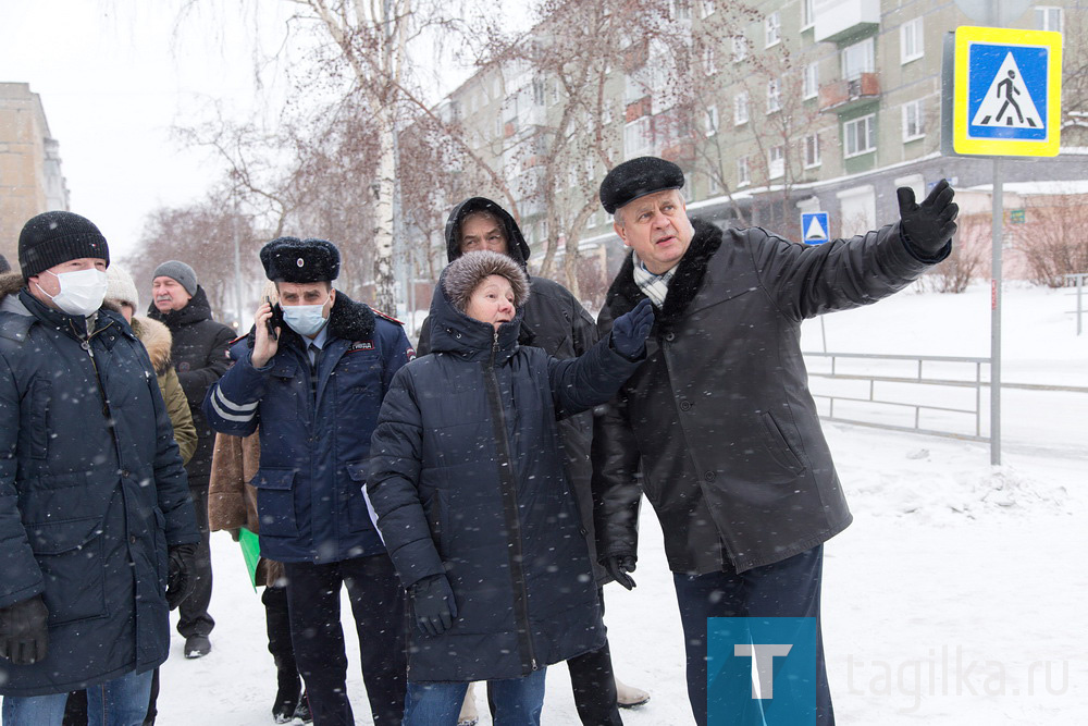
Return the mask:
<path id="1" fill-rule="evenodd" d="M 824 546 L 744 573 L 673 574 L 680 622 L 688 651 L 688 698 L 695 723 L 706 726 L 706 618 L 814 617 L 819 627 L 819 590 Z M 819 631 L 817 630 L 817 633 Z M 818 635 L 818 723 L 834 724 L 831 691 Z"/>

